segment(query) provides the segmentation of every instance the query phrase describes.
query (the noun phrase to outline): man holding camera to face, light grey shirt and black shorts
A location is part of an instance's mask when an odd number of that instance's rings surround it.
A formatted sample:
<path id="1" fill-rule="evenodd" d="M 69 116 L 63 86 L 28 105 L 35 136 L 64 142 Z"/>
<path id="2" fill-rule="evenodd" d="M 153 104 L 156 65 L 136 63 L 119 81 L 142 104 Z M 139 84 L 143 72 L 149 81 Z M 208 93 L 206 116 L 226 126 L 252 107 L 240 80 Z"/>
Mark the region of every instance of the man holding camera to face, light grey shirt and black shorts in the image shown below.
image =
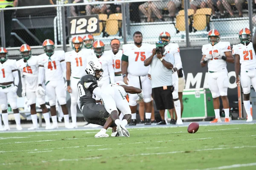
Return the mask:
<path id="1" fill-rule="evenodd" d="M 152 96 L 162 119 L 157 125 L 166 125 L 164 112 L 166 109 L 170 112 L 174 108 L 172 68 L 175 60 L 170 53 L 163 55 L 165 45 L 162 41 L 157 42 L 152 55 L 144 61 L 145 66 L 151 67 Z"/>

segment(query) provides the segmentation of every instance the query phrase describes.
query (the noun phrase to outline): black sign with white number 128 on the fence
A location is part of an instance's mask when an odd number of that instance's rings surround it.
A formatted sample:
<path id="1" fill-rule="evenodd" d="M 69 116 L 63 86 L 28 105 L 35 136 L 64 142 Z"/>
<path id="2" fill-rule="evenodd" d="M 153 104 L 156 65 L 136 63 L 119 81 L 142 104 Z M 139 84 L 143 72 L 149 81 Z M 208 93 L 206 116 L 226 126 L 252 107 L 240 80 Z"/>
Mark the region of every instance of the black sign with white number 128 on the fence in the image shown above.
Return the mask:
<path id="1" fill-rule="evenodd" d="M 69 17 L 68 28 L 70 35 L 99 33 L 99 16 Z"/>

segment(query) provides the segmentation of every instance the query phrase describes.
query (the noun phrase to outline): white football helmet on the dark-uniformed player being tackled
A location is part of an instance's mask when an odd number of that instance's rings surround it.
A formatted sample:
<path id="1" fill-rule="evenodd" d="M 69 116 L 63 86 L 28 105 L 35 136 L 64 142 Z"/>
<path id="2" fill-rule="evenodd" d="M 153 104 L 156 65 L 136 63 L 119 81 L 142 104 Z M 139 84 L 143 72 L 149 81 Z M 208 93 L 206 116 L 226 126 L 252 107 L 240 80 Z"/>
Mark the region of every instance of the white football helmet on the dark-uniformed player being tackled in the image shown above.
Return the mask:
<path id="1" fill-rule="evenodd" d="M 92 74 L 97 80 L 102 79 L 103 69 L 101 63 L 98 61 L 89 61 L 86 65 L 85 72 Z"/>

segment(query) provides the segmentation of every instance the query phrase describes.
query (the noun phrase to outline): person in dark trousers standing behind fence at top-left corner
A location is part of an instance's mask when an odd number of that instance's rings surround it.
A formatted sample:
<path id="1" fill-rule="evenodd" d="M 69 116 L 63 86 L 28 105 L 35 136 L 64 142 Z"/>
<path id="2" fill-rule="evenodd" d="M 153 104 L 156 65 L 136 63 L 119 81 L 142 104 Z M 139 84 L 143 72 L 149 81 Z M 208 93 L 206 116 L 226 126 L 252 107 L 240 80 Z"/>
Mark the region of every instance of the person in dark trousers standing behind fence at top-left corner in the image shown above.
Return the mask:
<path id="1" fill-rule="evenodd" d="M 0 8 L 11 8 L 18 6 L 18 0 L 3 0 L 0 3 Z M 6 10 L 4 11 L 3 18 L 4 18 L 4 30 L 5 30 L 5 42 L 6 44 L 2 44 L 3 47 L 10 46 L 10 39 L 12 33 L 12 17 L 13 17 L 14 10 Z"/>

